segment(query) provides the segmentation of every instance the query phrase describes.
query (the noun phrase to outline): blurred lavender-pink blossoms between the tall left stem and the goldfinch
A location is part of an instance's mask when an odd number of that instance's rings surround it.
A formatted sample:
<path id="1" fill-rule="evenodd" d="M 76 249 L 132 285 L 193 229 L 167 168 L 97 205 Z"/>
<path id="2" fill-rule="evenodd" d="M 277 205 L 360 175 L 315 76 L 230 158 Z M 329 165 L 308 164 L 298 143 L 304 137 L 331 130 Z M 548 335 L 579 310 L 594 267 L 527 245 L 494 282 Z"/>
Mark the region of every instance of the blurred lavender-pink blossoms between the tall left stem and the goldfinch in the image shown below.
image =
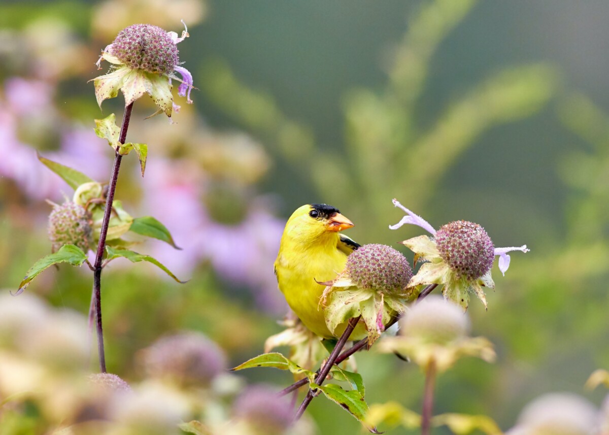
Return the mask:
<path id="1" fill-rule="evenodd" d="M 183 249 L 157 243 L 153 256 L 182 278 L 209 261 L 223 278 L 251 288 L 261 308 L 285 311 L 273 274 L 284 222 L 273 216 L 268 201 L 253 200 L 242 222 L 225 225 L 209 216 L 201 200 L 205 182 L 185 161 L 151 160 L 144 185 L 142 214 L 163 222 Z"/>

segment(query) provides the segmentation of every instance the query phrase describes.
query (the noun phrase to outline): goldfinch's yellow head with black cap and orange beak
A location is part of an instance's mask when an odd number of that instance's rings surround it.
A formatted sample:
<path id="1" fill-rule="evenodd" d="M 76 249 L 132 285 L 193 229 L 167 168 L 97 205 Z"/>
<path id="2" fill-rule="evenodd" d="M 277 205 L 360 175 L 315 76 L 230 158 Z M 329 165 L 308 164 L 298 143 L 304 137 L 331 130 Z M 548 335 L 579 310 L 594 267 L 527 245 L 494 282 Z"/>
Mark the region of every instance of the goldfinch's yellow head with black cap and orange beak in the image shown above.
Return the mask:
<path id="1" fill-rule="evenodd" d="M 318 238 L 336 234 L 353 227 L 353 222 L 345 218 L 337 208 L 328 204 L 307 204 L 298 208 L 286 224 L 286 231 L 299 238 Z"/>

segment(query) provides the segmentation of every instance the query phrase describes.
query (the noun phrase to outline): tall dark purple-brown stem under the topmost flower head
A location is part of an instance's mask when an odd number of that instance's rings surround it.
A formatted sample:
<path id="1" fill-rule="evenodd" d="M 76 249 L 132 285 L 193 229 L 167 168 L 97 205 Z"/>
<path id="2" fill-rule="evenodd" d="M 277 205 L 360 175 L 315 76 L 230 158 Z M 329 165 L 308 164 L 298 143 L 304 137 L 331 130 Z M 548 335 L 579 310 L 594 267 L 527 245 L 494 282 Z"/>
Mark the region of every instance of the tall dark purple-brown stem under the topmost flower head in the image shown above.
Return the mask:
<path id="1" fill-rule="evenodd" d="M 127 129 L 131 119 L 131 111 L 133 103 L 125 107 L 125 113 L 122 116 L 121 134 L 119 142 L 125 143 L 127 138 Z M 106 247 L 106 237 L 108 235 L 108 225 L 110 224 L 110 215 L 112 214 L 112 203 L 114 201 L 114 191 L 116 191 L 116 180 L 118 180 L 118 171 L 121 169 L 122 155 L 116 150 L 114 154 L 114 164 L 110 175 L 110 185 L 108 186 L 108 194 L 106 197 L 106 207 L 104 210 L 104 219 L 102 219 L 102 228 L 99 233 L 99 243 L 97 244 L 97 253 L 95 257 L 93 271 L 93 299 L 94 309 L 97 315 L 97 353 L 99 354 L 99 370 L 102 373 L 106 372 L 106 358 L 104 353 L 104 329 L 102 328 L 102 258 Z"/>

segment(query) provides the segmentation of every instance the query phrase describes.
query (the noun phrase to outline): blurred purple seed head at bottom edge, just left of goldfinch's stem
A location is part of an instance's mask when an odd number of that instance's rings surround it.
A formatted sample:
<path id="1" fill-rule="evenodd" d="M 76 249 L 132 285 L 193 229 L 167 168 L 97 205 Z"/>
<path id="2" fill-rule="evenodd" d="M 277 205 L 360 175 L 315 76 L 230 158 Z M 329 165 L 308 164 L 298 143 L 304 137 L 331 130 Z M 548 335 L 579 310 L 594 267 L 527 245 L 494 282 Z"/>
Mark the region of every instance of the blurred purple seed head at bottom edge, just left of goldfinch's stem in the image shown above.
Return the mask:
<path id="1" fill-rule="evenodd" d="M 289 400 L 277 397 L 266 386 L 249 387 L 233 403 L 235 416 L 253 426 L 256 433 L 281 434 L 294 422 L 294 409 Z"/>

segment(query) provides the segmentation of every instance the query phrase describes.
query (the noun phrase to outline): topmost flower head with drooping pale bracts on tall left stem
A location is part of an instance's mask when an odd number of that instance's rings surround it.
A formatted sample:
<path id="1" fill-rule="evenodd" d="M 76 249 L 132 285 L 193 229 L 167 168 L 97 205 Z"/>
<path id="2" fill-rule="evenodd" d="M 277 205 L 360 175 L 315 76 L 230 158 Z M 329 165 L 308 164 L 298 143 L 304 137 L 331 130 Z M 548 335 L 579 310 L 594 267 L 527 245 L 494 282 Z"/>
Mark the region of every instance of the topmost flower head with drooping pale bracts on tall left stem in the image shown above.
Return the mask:
<path id="1" fill-rule="evenodd" d="M 113 65 L 108 74 L 93 80 L 99 107 L 105 99 L 116 97 L 119 90 L 125 106 L 149 94 L 158 107 L 155 115 L 165 113 L 171 118 L 172 110 L 180 108 L 171 94 L 172 80 L 180 82 L 178 95 L 186 96 L 191 104 L 192 74 L 180 66 L 178 59 L 177 44 L 188 37 L 186 24 L 184 27 L 181 37 L 151 24 L 133 24 L 121 30 L 97 61 L 99 69 L 102 59 Z"/>

